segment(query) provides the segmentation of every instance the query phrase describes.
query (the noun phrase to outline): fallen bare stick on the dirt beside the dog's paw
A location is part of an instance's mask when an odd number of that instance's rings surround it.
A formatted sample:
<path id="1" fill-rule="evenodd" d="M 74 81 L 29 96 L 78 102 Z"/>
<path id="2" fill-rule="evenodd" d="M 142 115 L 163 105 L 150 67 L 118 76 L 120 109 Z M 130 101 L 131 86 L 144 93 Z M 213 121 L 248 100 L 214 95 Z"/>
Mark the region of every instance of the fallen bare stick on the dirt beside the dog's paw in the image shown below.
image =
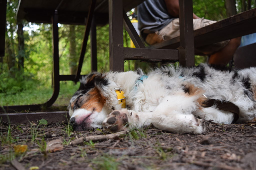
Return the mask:
<path id="1" fill-rule="evenodd" d="M 92 135 L 92 136 L 81 137 L 70 142 L 70 145 L 79 145 L 83 142 L 89 142 L 90 140 L 94 142 L 94 141 L 100 141 L 100 140 L 114 139 L 116 137 L 119 137 L 120 135 L 127 134 L 128 132 L 129 131 L 121 131 L 121 132 L 112 133 L 108 135 Z"/>

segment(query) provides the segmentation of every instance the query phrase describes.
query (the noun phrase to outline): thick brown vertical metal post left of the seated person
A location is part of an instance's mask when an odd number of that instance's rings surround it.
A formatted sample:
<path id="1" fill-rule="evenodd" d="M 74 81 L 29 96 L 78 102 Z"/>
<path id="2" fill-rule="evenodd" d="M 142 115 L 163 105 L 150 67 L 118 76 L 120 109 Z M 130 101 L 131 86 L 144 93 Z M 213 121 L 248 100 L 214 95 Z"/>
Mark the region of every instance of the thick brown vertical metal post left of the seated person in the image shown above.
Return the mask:
<path id="1" fill-rule="evenodd" d="M 110 70 L 124 71 L 123 47 L 123 1 L 109 0 Z"/>

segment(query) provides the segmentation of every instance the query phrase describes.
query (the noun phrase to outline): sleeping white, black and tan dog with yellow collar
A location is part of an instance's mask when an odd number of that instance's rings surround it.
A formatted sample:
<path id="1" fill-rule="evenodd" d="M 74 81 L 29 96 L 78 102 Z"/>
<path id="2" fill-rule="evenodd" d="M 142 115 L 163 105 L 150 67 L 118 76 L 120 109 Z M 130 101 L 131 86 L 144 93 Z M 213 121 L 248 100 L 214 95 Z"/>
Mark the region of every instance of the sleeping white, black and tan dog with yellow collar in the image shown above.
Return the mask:
<path id="1" fill-rule="evenodd" d="M 231 124 L 256 116 L 256 68 L 220 70 L 201 64 L 163 67 L 148 75 L 93 72 L 80 80 L 69 104 L 74 130 L 111 132 L 153 124 L 174 133 L 205 131 L 204 120 Z"/>

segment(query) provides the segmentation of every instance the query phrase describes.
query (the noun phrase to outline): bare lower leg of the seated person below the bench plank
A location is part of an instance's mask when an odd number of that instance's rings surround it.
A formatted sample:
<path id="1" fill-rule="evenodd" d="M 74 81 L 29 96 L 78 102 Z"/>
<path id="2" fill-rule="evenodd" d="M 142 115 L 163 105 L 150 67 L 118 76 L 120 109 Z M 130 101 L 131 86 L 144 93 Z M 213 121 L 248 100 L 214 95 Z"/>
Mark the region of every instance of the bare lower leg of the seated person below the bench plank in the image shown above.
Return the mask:
<path id="1" fill-rule="evenodd" d="M 232 59 L 240 43 L 241 37 L 231 39 L 224 48 L 210 56 L 209 64 L 226 66 L 228 62 Z"/>

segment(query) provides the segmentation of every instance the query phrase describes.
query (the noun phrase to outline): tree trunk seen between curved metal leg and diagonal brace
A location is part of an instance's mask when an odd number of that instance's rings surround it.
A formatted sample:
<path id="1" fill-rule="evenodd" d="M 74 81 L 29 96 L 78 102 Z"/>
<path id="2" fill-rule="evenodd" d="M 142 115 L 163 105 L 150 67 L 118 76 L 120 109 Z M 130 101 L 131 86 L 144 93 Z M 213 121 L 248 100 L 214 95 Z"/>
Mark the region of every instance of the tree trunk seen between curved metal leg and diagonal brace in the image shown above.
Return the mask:
<path id="1" fill-rule="evenodd" d="M 76 53 L 76 32 L 75 32 L 75 25 L 69 25 L 69 67 L 70 67 L 70 74 L 74 75 L 77 72 L 77 62 L 78 57 Z"/>

